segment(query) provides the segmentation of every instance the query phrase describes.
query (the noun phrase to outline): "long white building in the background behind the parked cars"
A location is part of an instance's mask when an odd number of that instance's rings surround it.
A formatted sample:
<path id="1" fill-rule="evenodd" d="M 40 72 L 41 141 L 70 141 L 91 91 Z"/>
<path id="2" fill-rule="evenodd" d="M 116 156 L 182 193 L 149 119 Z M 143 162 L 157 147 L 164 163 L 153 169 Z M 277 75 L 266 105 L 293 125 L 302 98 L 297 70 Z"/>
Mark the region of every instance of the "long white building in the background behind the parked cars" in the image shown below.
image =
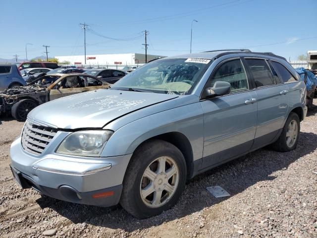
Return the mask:
<path id="1" fill-rule="evenodd" d="M 147 55 L 147 61 L 162 58 L 164 56 Z M 59 62 L 69 61 L 73 65 L 85 64 L 85 56 L 55 56 Z M 86 55 L 86 65 L 136 65 L 145 63 L 145 54 L 106 54 Z"/>

